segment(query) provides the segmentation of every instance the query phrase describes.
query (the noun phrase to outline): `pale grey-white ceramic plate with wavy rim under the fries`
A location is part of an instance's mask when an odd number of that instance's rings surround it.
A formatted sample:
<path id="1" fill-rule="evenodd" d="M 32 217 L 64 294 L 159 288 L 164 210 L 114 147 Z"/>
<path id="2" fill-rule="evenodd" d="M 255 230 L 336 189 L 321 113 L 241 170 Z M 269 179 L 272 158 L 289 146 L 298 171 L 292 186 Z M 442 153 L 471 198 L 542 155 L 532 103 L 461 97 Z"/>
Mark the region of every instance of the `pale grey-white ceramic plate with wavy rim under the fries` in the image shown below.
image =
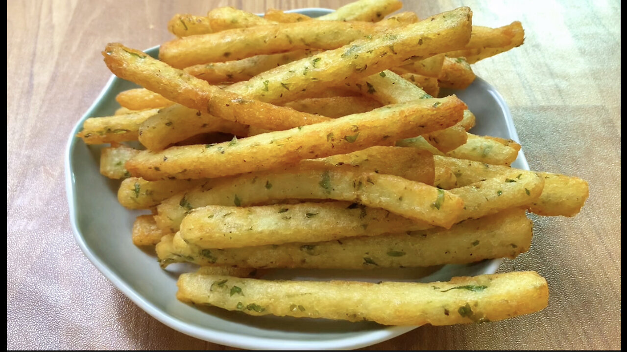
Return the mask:
<path id="1" fill-rule="evenodd" d="M 320 16 L 327 9 L 301 9 L 299 13 Z M 146 51 L 157 56 L 158 47 Z M 119 107 L 115 95 L 137 86 L 112 76 L 105 88 L 70 134 L 65 155 L 66 192 L 70 221 L 78 246 L 85 256 L 120 291 L 155 319 L 196 338 L 248 349 L 350 349 L 379 343 L 416 327 L 388 327 L 376 323 L 349 323 L 325 319 L 253 317 L 221 309 L 200 311 L 176 299 L 177 271 L 189 270 L 179 264 L 174 271 L 162 270 L 154 253 L 135 247 L 132 224 L 139 211 L 124 209 L 117 202 L 119 181 L 99 172 L 100 145 L 85 145 L 76 138 L 85 119 L 110 116 Z M 449 91 L 453 93 L 453 91 Z M 518 141 L 514 122 L 502 96 L 487 82 L 477 78 L 463 91 L 454 91 L 477 116 L 478 135 Z M 522 153 L 512 165 L 529 170 Z M 428 269 L 384 271 L 277 270 L 265 278 L 275 279 L 361 279 L 379 281 L 438 281 L 452 276 L 475 276 L 497 270 L 500 260 L 469 265 L 449 265 Z"/>

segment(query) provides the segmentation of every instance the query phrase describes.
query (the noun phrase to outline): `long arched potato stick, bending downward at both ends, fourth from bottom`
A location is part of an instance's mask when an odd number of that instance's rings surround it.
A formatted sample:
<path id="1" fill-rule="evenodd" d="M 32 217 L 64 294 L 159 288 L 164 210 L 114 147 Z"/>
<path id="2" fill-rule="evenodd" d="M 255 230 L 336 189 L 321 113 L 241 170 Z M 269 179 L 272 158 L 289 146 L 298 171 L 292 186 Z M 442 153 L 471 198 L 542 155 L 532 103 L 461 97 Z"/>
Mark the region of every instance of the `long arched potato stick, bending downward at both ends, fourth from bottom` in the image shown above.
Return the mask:
<path id="1" fill-rule="evenodd" d="M 162 230 L 176 232 L 189 210 L 205 205 L 248 206 L 275 199 L 335 199 L 450 227 L 463 207 L 457 197 L 449 197 L 448 192 L 421 182 L 353 167 L 321 168 L 314 165 L 312 169 L 310 165 L 212 180 L 210 184 L 164 200 L 157 207 L 155 220 Z"/>

